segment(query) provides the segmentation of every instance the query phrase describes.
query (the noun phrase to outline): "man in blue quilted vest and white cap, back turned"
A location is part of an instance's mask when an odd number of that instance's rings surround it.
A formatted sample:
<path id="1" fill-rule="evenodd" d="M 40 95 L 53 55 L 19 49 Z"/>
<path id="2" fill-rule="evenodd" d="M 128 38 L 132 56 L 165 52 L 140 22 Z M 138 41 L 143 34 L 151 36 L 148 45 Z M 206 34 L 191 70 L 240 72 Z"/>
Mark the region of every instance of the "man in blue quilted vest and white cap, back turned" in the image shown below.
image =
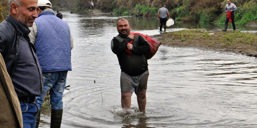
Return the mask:
<path id="1" fill-rule="evenodd" d="M 67 72 L 72 70 L 73 38 L 69 25 L 55 16 L 49 0 L 38 0 L 38 7 L 38 18 L 29 28 L 31 30 L 29 38 L 36 47 L 44 79 L 44 92 L 37 97 L 39 113 L 36 127 L 39 125 L 42 103 L 46 93 L 50 91 L 51 128 L 60 128 L 63 111 L 62 95 Z"/>

